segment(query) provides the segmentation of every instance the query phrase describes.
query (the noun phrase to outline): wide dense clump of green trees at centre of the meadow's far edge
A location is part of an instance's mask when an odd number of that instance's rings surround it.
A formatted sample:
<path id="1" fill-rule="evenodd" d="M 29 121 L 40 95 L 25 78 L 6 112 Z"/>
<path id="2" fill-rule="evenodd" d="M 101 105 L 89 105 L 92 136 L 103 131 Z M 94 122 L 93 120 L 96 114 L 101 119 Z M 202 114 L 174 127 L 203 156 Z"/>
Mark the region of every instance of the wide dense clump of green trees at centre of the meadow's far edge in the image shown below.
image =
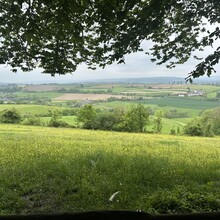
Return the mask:
<path id="1" fill-rule="evenodd" d="M 97 114 L 91 104 L 80 108 L 77 120 L 86 129 L 144 132 L 149 121 L 149 109 L 138 104 L 127 111 L 115 109 L 113 112 Z"/>

